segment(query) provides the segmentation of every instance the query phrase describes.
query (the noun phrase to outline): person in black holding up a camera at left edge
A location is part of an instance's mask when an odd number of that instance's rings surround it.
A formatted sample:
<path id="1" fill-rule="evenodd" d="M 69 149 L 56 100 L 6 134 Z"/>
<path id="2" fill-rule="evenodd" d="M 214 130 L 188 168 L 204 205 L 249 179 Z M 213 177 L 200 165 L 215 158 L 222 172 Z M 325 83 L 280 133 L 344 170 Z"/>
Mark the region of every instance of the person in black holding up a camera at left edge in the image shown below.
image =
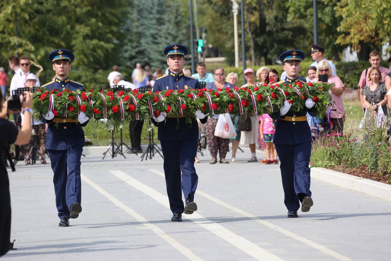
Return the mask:
<path id="1" fill-rule="evenodd" d="M 25 92 L 26 100 L 22 106 L 24 108 L 24 121 L 22 128 L 18 131 L 15 124 L 5 118 L 7 115 L 8 102 L 5 101 L 0 108 L 0 156 L 6 152 L 9 144 L 27 144 L 31 138 L 31 115 L 32 115 L 32 93 Z M 2 104 L 2 97 L 0 97 Z M 14 111 L 9 111 L 12 114 Z M 9 250 L 9 237 L 11 234 L 11 199 L 9 195 L 9 180 L 7 170 L 2 159 L 0 159 L 0 256 Z"/>

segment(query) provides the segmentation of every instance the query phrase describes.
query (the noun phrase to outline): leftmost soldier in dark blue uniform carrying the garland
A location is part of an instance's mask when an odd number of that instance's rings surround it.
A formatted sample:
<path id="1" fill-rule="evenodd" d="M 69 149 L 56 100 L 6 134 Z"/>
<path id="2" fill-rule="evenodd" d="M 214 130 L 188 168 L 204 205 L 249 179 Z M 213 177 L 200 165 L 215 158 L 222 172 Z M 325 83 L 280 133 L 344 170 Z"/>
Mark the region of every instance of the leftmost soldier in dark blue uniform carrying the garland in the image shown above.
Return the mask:
<path id="1" fill-rule="evenodd" d="M 56 79 L 42 87 L 61 90 L 63 88 L 74 91 L 83 90 L 83 84 L 69 79 L 68 72 L 75 56 L 70 51 L 58 49 L 49 54 L 53 63 Z M 56 108 L 54 108 L 56 109 Z M 80 112 L 78 119 L 54 118 L 53 112 L 43 115 L 43 121 L 49 123 L 46 136 L 46 149 L 50 156 L 54 172 L 53 183 L 56 194 L 58 217 L 61 219 L 59 227 L 69 227 L 69 218 L 77 218 L 81 212 L 81 177 L 80 159 L 84 147 L 84 127 L 88 117 Z M 58 127 L 55 127 L 58 123 Z"/>

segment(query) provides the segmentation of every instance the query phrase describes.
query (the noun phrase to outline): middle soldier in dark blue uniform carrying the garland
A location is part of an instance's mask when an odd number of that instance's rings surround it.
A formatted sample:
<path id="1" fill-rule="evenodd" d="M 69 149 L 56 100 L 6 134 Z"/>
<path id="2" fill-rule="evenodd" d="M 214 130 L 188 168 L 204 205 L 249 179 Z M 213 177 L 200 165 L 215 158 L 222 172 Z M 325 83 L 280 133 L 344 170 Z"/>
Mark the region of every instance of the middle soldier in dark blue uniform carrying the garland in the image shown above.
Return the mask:
<path id="1" fill-rule="evenodd" d="M 180 44 L 169 45 L 163 52 L 167 56 L 169 73 L 155 80 L 153 90 L 165 91 L 180 89 L 200 89 L 196 78 L 183 74 L 185 55 L 187 48 Z M 202 123 L 208 120 L 207 114 L 197 111 L 197 118 Z M 164 174 L 169 196 L 170 208 L 173 213 L 171 221 L 182 221 L 182 213 L 192 214 L 197 210 L 194 202 L 194 193 L 197 188 L 198 176 L 195 173 L 194 161 L 198 147 L 198 124 L 193 120 L 188 124 L 185 118 L 179 118 L 179 128 L 177 129 L 177 119 L 165 116 L 162 112 L 160 116 L 154 118 L 155 125 L 158 126 L 158 139 L 164 156 Z M 164 120 L 166 120 L 164 122 Z M 183 206 L 182 192 L 186 199 L 186 206 Z"/>

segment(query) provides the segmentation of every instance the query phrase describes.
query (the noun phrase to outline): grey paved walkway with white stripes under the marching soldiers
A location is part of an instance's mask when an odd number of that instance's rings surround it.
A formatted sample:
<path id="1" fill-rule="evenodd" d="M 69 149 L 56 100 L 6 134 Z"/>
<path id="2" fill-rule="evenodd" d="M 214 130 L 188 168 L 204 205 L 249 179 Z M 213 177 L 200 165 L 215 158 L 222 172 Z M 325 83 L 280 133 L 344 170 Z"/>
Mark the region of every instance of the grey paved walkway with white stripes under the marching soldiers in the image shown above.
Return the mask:
<path id="1" fill-rule="evenodd" d="M 288 219 L 279 165 L 196 164 L 199 210 L 171 222 L 163 161 L 86 156 L 83 212 L 58 227 L 50 165 L 9 173 L 11 240 L 4 260 L 385 260 L 391 202 L 312 179 L 314 207 Z M 258 158 L 261 158 L 258 153 Z M 230 153 L 227 158 L 230 158 Z"/>

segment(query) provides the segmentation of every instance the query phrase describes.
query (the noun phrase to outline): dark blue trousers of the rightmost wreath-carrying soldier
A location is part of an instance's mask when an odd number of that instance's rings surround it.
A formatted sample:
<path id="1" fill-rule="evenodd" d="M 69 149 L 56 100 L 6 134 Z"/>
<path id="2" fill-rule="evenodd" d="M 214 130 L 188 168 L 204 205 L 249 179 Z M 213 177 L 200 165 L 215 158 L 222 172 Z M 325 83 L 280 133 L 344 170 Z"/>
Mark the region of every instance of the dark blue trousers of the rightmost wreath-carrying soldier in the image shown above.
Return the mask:
<path id="1" fill-rule="evenodd" d="M 284 188 L 284 203 L 288 210 L 300 208 L 299 193 L 311 196 L 310 190 L 310 156 L 311 142 L 299 143 L 296 145 L 274 144 L 278 158 L 280 158 L 280 169 L 282 187 Z"/>

